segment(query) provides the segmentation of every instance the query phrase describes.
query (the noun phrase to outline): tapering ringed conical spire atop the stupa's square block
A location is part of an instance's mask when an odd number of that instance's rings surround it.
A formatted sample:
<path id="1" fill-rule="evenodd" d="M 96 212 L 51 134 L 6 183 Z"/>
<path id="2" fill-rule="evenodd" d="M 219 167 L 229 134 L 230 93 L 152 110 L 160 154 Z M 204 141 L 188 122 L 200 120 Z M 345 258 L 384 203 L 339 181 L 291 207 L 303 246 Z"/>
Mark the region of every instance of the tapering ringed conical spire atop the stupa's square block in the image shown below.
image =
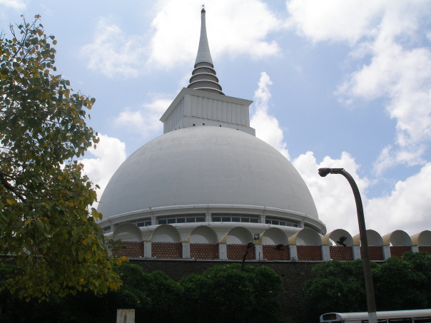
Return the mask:
<path id="1" fill-rule="evenodd" d="M 199 39 L 198 55 L 196 56 L 195 68 L 193 69 L 188 88 L 223 94 L 215 76 L 214 64 L 211 58 L 210 46 L 206 36 L 205 8 L 201 10 L 201 38 Z"/>

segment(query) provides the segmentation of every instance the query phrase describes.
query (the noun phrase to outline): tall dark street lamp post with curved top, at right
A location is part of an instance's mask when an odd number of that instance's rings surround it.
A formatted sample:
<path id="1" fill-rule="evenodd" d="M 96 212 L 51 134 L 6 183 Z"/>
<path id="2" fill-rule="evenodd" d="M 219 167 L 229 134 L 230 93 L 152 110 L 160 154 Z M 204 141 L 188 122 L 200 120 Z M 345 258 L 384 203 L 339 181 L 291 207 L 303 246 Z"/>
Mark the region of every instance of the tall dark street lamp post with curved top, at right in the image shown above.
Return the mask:
<path id="1" fill-rule="evenodd" d="M 367 297 L 367 309 L 368 309 L 368 322 L 377 323 L 377 315 L 375 309 L 375 297 L 374 297 L 374 287 L 372 285 L 372 275 L 371 275 L 371 265 L 370 256 L 368 253 L 368 240 L 367 240 L 367 230 L 365 229 L 365 218 L 364 209 L 362 207 L 362 200 L 360 198 L 360 193 L 358 185 L 356 185 L 353 177 L 344 170 L 344 168 L 319 168 L 319 175 L 325 177 L 328 174 L 341 174 L 350 183 L 353 190 L 353 195 L 355 195 L 356 211 L 358 212 L 358 223 L 359 223 L 359 235 L 362 264 L 364 266 L 364 278 L 365 278 L 365 294 Z"/>

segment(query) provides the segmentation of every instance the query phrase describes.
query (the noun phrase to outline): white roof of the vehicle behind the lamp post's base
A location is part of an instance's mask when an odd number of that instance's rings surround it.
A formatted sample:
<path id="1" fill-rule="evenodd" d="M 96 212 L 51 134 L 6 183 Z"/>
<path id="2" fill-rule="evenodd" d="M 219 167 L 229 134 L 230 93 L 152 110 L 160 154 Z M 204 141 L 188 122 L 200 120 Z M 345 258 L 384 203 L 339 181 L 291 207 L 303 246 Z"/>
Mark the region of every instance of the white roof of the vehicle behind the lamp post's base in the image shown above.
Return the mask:
<path id="1" fill-rule="evenodd" d="M 431 309 L 376 312 L 377 322 L 386 323 L 431 323 Z M 320 316 L 323 323 L 368 323 L 368 312 L 326 313 Z"/>

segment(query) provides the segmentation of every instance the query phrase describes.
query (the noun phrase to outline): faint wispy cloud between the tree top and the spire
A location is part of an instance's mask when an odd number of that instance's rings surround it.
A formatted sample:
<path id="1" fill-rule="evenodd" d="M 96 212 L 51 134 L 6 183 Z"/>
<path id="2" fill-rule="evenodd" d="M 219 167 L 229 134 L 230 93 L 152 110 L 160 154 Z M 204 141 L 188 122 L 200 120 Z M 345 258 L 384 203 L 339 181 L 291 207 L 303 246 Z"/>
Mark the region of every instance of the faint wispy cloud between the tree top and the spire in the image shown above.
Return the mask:
<path id="1" fill-rule="evenodd" d="M 98 19 L 93 42 L 81 48 L 88 59 L 88 68 L 108 78 L 138 76 L 143 65 L 145 48 L 140 36 L 126 36 L 110 19 Z"/>

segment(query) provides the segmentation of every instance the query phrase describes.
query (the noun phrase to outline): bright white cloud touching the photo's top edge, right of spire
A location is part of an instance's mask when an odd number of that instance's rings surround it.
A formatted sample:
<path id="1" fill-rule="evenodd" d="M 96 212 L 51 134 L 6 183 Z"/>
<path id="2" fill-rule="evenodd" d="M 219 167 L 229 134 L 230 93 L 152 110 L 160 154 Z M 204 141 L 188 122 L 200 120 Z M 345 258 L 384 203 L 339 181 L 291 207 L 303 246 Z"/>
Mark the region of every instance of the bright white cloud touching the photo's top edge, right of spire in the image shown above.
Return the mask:
<path id="1" fill-rule="evenodd" d="M 429 0 L 289 0 L 288 24 L 313 42 L 345 41 L 350 46 L 377 36 L 412 34 L 417 15 L 429 11 Z M 424 14 L 426 16 L 426 14 Z"/>

